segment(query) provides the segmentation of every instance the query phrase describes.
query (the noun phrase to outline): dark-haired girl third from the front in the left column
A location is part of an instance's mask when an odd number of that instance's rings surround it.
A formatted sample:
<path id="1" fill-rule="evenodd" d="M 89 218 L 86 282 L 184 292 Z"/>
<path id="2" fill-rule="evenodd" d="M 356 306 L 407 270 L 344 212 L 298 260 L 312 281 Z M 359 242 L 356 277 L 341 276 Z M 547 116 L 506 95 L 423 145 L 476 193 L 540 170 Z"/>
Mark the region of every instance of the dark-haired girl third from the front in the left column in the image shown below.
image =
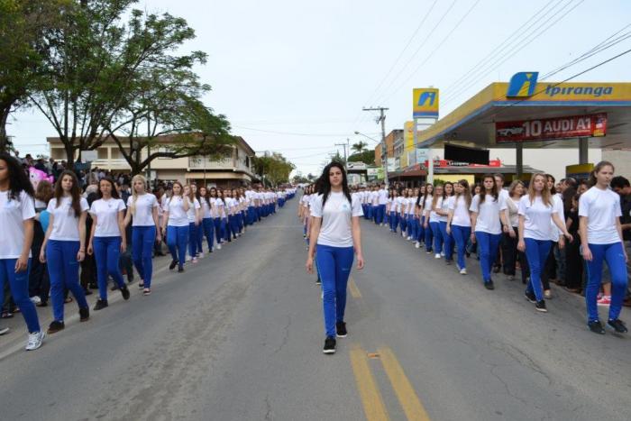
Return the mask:
<path id="1" fill-rule="evenodd" d="M 90 207 L 93 224 L 87 253 L 94 252 L 96 258 L 96 282 L 98 296 L 95 311 L 108 306 L 107 277 L 114 279 L 125 300 L 129 299 L 129 289 L 125 285 L 118 265 L 121 252 L 127 250 L 124 225 L 125 204 L 118 196 L 118 190 L 112 178 L 102 178 L 98 182 L 98 200 Z"/>

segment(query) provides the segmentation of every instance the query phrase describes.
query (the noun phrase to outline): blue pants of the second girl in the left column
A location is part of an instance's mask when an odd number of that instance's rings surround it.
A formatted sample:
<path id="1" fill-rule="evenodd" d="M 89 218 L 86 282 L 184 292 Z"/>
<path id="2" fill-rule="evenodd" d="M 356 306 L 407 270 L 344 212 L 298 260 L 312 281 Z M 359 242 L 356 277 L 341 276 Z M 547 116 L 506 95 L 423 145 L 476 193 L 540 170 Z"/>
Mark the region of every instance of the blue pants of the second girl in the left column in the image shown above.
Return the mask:
<path id="1" fill-rule="evenodd" d="M 86 292 L 79 285 L 78 241 L 49 240 L 46 243 L 46 261 L 50 279 L 52 317 L 63 322 L 64 295 L 66 289 L 75 296 L 79 308 L 87 308 Z"/>

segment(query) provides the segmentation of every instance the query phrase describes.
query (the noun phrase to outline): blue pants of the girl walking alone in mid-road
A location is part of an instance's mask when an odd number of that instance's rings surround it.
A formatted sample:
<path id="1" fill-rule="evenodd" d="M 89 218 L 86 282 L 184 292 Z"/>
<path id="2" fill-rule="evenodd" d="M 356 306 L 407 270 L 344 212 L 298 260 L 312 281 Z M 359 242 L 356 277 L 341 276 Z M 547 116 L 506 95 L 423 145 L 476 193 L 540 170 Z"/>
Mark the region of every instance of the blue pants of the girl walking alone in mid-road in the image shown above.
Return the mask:
<path id="1" fill-rule="evenodd" d="M 315 260 L 324 291 L 325 334 L 335 336 L 335 322 L 343 322 L 346 285 L 351 275 L 353 248 L 317 244 Z"/>

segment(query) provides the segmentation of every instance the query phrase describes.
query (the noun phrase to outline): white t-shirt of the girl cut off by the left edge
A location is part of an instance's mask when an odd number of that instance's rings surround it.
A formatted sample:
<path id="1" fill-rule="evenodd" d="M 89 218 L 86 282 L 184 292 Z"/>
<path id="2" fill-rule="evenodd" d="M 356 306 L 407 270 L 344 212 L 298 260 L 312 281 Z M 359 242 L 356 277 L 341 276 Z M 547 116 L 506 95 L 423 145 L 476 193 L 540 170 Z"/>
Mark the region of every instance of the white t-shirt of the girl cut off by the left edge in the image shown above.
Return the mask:
<path id="1" fill-rule="evenodd" d="M 35 217 L 35 202 L 24 191 L 20 192 L 20 200 L 9 200 L 8 194 L 8 191 L 0 192 L 0 233 L 3 235 L 0 259 L 17 259 L 22 255 L 24 244 L 23 222 Z"/>

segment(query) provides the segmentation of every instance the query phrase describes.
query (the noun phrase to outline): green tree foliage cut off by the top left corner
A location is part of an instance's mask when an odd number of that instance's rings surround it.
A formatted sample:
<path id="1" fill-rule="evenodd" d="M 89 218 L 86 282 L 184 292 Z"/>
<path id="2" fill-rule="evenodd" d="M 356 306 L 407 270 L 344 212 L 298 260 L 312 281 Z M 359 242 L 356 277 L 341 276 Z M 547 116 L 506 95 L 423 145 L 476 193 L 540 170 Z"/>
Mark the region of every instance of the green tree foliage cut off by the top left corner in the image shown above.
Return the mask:
<path id="1" fill-rule="evenodd" d="M 46 69 L 46 39 L 59 31 L 69 0 L 0 0 L 0 151 L 9 144 L 9 115 L 26 105 L 35 79 Z"/>

